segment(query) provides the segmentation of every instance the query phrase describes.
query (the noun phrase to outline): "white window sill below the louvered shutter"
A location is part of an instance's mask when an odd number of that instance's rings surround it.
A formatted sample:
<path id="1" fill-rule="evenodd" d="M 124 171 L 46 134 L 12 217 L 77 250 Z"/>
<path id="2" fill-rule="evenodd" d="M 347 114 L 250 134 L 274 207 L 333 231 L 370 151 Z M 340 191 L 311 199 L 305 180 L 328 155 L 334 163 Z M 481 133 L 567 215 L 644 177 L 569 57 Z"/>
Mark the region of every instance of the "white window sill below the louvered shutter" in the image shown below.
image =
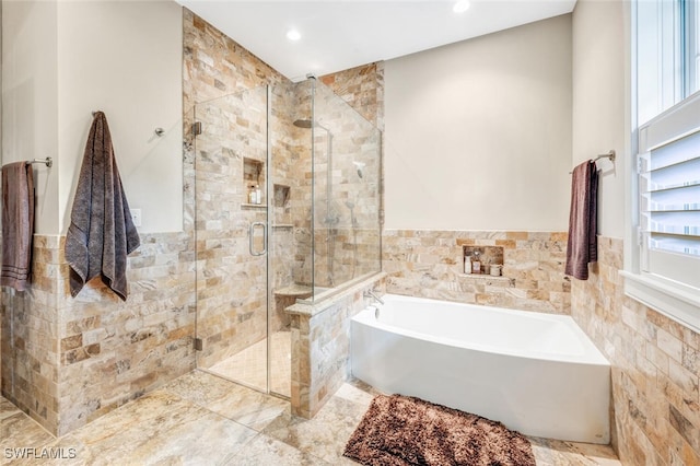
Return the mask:
<path id="1" fill-rule="evenodd" d="M 654 275 L 620 270 L 625 294 L 661 314 L 700 331 L 700 295 L 692 288 Z"/>

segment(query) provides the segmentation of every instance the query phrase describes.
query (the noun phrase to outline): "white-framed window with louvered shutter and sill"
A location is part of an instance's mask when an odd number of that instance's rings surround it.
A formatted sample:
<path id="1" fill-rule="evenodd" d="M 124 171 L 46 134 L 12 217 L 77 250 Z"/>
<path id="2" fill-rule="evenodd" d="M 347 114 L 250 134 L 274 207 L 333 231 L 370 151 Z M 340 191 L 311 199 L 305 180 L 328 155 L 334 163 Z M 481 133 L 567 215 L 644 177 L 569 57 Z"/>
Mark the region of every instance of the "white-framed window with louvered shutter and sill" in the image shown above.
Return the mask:
<path id="1" fill-rule="evenodd" d="M 700 328 L 700 8 L 633 3 L 639 248 L 626 292 Z"/>

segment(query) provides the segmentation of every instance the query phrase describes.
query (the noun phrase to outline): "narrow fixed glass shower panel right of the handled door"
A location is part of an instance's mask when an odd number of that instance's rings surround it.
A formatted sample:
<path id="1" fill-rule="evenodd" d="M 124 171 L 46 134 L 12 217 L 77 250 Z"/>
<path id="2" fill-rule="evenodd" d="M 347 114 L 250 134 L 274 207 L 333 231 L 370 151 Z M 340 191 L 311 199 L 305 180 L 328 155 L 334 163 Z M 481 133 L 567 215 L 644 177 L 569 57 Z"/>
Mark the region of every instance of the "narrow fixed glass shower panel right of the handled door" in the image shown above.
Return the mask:
<path id="1" fill-rule="evenodd" d="M 313 287 L 311 84 L 270 91 L 269 252 L 270 391 L 291 395 L 290 316 L 284 311 Z"/>

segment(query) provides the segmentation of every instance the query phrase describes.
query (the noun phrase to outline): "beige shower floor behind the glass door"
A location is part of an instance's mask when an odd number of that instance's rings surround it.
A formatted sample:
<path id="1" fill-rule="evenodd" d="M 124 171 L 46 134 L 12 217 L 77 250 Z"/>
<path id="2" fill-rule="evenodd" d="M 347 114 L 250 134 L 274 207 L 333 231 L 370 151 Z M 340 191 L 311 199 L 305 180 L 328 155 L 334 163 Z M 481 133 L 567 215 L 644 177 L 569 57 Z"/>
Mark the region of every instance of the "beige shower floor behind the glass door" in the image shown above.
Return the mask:
<path id="1" fill-rule="evenodd" d="M 270 391 L 291 396 L 292 345 L 290 331 L 276 331 L 270 337 Z M 208 369 L 234 382 L 267 391 L 267 339 L 249 346 Z"/>

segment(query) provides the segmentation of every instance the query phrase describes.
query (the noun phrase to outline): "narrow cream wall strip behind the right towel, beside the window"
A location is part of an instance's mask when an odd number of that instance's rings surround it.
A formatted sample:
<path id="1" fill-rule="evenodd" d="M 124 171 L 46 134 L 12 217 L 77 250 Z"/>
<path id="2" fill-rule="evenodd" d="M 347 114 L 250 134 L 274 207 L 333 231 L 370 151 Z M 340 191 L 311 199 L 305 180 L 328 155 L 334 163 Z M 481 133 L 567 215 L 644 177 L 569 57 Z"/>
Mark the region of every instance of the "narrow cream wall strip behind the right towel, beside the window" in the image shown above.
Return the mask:
<path id="1" fill-rule="evenodd" d="M 573 12 L 572 165 L 617 152 L 615 163 L 598 161 L 598 233 L 625 236 L 625 168 L 629 155 L 629 57 L 625 2 L 579 0 Z"/>

